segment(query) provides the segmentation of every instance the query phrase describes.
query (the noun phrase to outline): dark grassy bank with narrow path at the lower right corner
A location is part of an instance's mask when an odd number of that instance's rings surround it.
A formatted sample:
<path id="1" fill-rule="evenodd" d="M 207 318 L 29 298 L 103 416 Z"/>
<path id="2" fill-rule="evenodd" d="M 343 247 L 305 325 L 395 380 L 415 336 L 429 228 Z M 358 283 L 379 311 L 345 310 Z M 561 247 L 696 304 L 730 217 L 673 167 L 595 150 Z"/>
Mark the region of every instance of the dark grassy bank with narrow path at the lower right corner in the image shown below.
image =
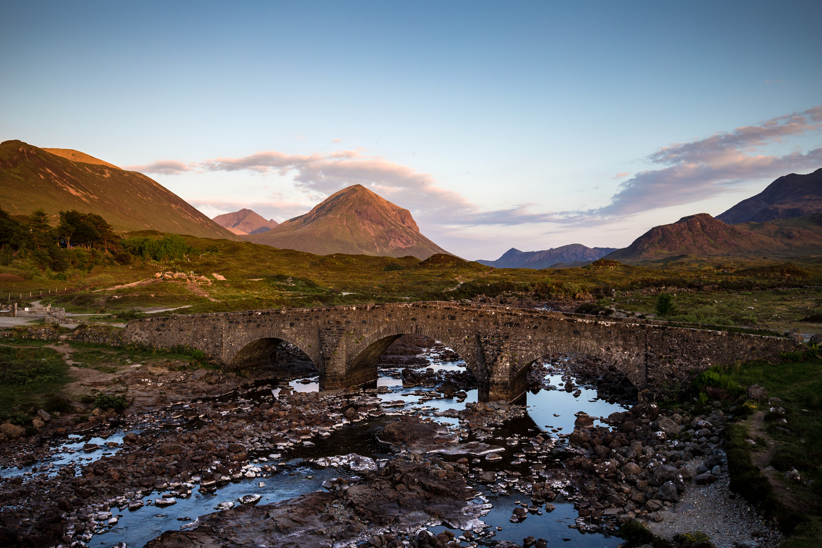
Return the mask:
<path id="1" fill-rule="evenodd" d="M 783 548 L 822 546 L 822 358 L 818 349 L 792 353 L 780 363 L 737 363 L 723 368 L 727 387 L 761 385 L 773 403 L 744 391 L 742 419 L 726 431 L 731 488 L 774 519 L 788 538 Z M 717 397 L 715 387 L 712 398 Z M 704 399 L 704 398 L 703 398 Z M 787 476 L 786 476 L 787 474 Z"/>

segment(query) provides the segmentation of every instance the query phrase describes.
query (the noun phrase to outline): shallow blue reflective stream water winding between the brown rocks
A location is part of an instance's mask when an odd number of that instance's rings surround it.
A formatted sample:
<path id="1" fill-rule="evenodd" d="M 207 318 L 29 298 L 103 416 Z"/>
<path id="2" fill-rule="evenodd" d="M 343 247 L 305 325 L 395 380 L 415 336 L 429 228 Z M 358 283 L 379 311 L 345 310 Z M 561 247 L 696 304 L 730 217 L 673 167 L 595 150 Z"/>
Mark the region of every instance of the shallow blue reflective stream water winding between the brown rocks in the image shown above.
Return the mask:
<path id="1" fill-rule="evenodd" d="M 430 360 L 430 358 L 429 358 Z M 431 362 L 434 371 L 460 371 L 464 368 L 462 361 Z M 252 466 L 256 467 L 257 477 L 234 480 L 224 486 L 220 486 L 213 494 L 204 494 L 196 487 L 192 489 L 192 495 L 186 499 L 177 499 L 177 503 L 164 508 L 159 508 L 153 501 L 161 495 L 161 491 L 149 492 L 144 490 L 143 501 L 145 505 L 134 511 L 124 509 L 118 512 L 117 507 L 110 509 L 112 516 L 117 518 L 117 523 L 107 527 L 105 532 L 96 534 L 87 541 L 89 546 L 113 546 L 118 542 L 125 542 L 127 546 L 143 546 L 145 542 L 159 536 L 160 533 L 169 529 L 178 529 L 185 523 L 189 523 L 198 516 L 205 513 L 215 512 L 219 503 L 237 503 L 239 497 L 243 495 L 261 495 L 259 504 L 270 504 L 279 500 L 287 500 L 312 490 L 323 489 L 322 483 L 326 479 L 335 477 L 352 477 L 357 475 L 349 467 L 319 467 L 312 460 L 321 457 L 331 457 L 356 453 L 365 457 L 370 457 L 379 461 L 393 456 L 389 447 L 376 439 L 376 434 L 390 421 L 395 421 L 397 416 L 391 414 L 395 410 L 402 410 L 403 414 L 416 414 L 418 416 L 428 416 L 451 429 L 459 428 L 457 418 L 436 417 L 435 413 L 446 409 L 460 410 L 465 407 L 465 403 L 477 401 L 477 390 L 469 390 L 464 398 L 430 398 L 431 388 L 413 387 L 404 388 L 402 380 L 395 376 L 399 369 L 391 369 L 382 372 L 378 381 L 378 386 L 382 391 L 388 390 L 384 394 L 372 392 L 372 396 L 379 398 L 381 402 L 396 402 L 402 400 L 404 406 L 397 408 L 386 407 L 386 415 L 383 417 L 371 417 L 365 421 L 349 423 L 325 437 L 312 438 L 313 446 L 294 446 L 288 449 L 259 449 L 250 451 Z M 526 475 L 530 465 L 533 463 L 544 464 L 547 467 L 561 466 L 556 462 L 558 459 L 533 460 L 532 457 L 525 457 L 520 454 L 517 444 L 506 444 L 506 438 L 510 440 L 512 435 L 523 435 L 533 437 L 537 433 L 547 433 L 556 437 L 557 433 L 570 433 L 574 428 L 575 412 L 584 411 L 591 417 L 607 417 L 612 412 L 621 411 L 623 408 L 614 403 L 607 403 L 597 398 L 597 392 L 593 389 L 586 389 L 579 386 L 580 394 L 576 397 L 563 386 L 568 380 L 568 376 L 563 376 L 553 372 L 546 376 L 546 380 L 556 389 L 542 389 L 537 394 L 528 394 L 527 414 L 521 419 L 510 421 L 496 429 L 491 435 L 483 436 L 484 441 L 489 444 L 499 444 L 506 447 L 501 453 L 502 460 L 496 463 L 489 463 L 486 459 L 474 459 L 469 466 L 482 466 L 485 470 L 520 472 Z M 318 389 L 317 379 L 298 379 L 290 382 L 294 391 L 310 392 Z M 577 388 L 577 387 L 575 387 Z M 258 383 L 256 388 L 235 391 L 233 394 L 221 396 L 221 401 L 238 402 L 242 407 L 243 402 L 250 400 L 267 400 L 276 398 L 279 394 L 279 385 L 272 380 L 270 384 Z M 438 394 L 440 395 L 440 394 Z M 460 394 L 462 395 L 462 394 Z M 201 401 L 205 401 L 202 398 Z M 413 413 L 409 413 L 413 412 Z M 187 412 L 187 405 L 173 406 L 166 412 L 160 412 L 156 417 L 130 426 L 128 431 L 140 433 L 155 428 L 169 428 L 174 430 L 186 430 L 194 426 L 201 425 L 202 422 L 197 417 L 196 412 Z M 54 447 L 54 453 L 41 459 L 34 466 L 7 468 L 0 470 L 2 476 L 24 477 L 39 473 L 56 473 L 59 467 L 66 465 L 80 465 L 97 460 L 104 454 L 113 454 L 122 447 L 122 437 L 127 433 L 125 429 L 117 430 L 116 425 L 109 430 L 113 434 L 105 439 L 86 435 L 69 436 L 68 443 L 62 443 Z M 476 440 L 475 436 L 469 436 L 467 441 Z M 464 440 L 465 441 L 465 440 Z M 111 444 L 109 447 L 106 444 Z M 99 445 L 99 449 L 92 449 L 88 452 L 82 450 L 84 444 Z M 115 445 L 116 444 L 116 445 Z M 520 454 L 516 458 L 515 455 Z M 512 461 L 515 461 L 512 463 Z M 263 468 L 266 465 L 275 465 L 277 472 L 268 473 Z M 475 488 L 482 492 L 487 501 L 493 504 L 493 509 L 488 513 L 483 521 L 492 526 L 487 531 L 492 531 L 494 536 L 485 536 L 476 539 L 480 546 L 494 546 L 496 541 L 515 541 L 521 545 L 523 538 L 534 536 L 535 538 L 545 538 L 549 541 L 549 546 L 556 546 L 561 542 L 562 546 L 579 546 L 580 548 L 615 547 L 621 539 L 613 536 L 605 536 L 599 533 L 584 534 L 569 526 L 575 524 L 577 513 L 572 504 L 566 502 L 565 493 L 557 497 L 553 502 L 556 509 L 548 512 L 544 507 L 538 513 L 529 513 L 520 523 L 510 523 L 509 518 L 515 506 L 531 504 L 529 496 L 516 492 L 515 490 L 502 490 L 494 492 L 488 486 L 473 484 Z M 192 486 L 193 487 L 193 486 Z M 432 527 L 432 531 L 440 532 L 445 527 Z M 501 528 L 501 530 L 497 530 Z M 454 531 L 456 536 L 461 532 Z M 365 546 L 365 545 L 363 545 Z"/>

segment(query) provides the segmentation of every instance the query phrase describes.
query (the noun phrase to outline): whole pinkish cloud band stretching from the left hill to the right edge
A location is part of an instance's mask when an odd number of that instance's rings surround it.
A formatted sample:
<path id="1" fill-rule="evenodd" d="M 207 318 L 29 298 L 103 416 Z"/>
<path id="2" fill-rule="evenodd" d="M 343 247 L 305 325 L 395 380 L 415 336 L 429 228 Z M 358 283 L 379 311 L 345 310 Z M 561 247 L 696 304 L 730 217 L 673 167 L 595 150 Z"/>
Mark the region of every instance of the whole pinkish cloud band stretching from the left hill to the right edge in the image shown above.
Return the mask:
<path id="1" fill-rule="evenodd" d="M 761 150 L 792 136 L 822 129 L 822 106 L 801 113 L 775 117 L 759 125 L 739 127 L 704 139 L 665 146 L 646 160 L 658 169 L 635 173 L 621 182 L 610 204 L 593 210 L 534 213 L 540 205 L 524 203 L 498 210 L 483 210 L 465 196 L 447 190 L 430 173 L 367 154 L 367 150 L 335 150 L 330 153 L 285 154 L 276 150 L 240 158 L 206 159 L 183 163 L 160 160 L 127 169 L 142 173 L 174 175 L 185 172 L 237 172 L 276 174 L 288 177 L 307 200 L 261 201 L 255 205 L 232 200 L 194 200 L 214 209 L 256 206 L 289 218 L 306 213 L 317 197 L 362 184 L 380 196 L 412 211 L 427 224 L 440 227 L 517 225 L 524 223 L 611 223 L 619 217 L 640 214 L 671 205 L 685 205 L 737 190 L 741 182 L 775 178 L 792 171 L 822 166 L 822 147 L 805 153 L 761 154 Z M 627 177 L 630 172 L 613 178 Z M 321 199 L 321 198 L 320 198 Z M 447 220 L 446 220 L 447 219 Z"/>

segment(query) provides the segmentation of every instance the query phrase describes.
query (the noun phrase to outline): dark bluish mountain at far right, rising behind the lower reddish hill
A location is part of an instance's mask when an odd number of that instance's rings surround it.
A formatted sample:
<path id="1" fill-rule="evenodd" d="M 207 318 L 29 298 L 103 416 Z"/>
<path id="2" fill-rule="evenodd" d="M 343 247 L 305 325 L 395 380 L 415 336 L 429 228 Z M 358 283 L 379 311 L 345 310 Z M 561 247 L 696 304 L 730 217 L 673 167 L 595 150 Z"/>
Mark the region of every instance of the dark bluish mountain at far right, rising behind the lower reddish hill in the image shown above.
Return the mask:
<path id="1" fill-rule="evenodd" d="M 822 211 L 822 168 L 807 175 L 791 173 L 770 183 L 764 191 L 717 215 L 724 223 L 762 223 L 804 217 Z"/>

